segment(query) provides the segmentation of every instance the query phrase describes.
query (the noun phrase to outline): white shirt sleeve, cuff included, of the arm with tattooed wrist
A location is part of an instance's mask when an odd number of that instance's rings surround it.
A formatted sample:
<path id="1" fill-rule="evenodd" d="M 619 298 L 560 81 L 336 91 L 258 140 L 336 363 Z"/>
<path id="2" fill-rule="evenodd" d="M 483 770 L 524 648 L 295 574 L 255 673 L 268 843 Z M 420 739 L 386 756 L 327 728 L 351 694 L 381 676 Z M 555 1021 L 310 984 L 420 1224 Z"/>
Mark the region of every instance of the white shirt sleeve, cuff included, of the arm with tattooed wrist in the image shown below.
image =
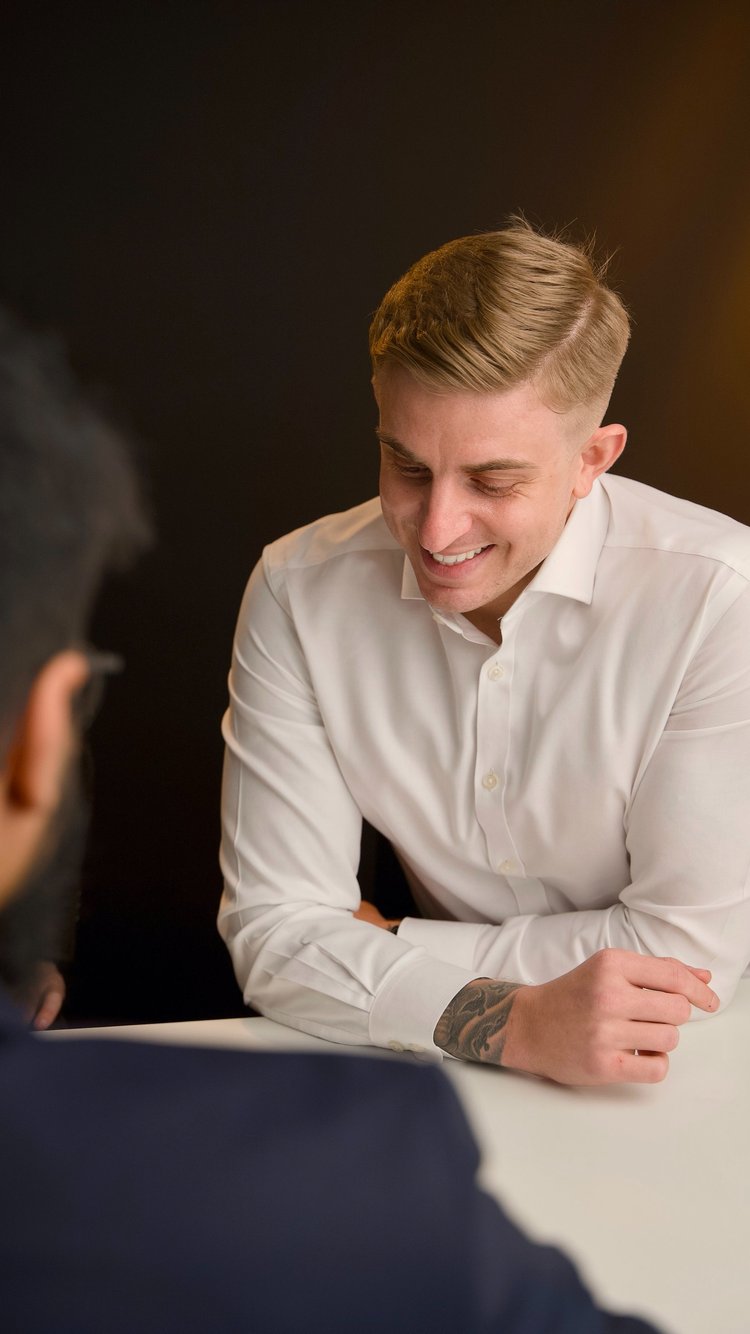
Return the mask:
<path id="1" fill-rule="evenodd" d="M 352 918 L 362 816 L 263 563 L 239 615 L 223 734 L 219 930 L 246 1000 L 334 1042 L 440 1059 L 435 1025 L 474 974 Z"/>

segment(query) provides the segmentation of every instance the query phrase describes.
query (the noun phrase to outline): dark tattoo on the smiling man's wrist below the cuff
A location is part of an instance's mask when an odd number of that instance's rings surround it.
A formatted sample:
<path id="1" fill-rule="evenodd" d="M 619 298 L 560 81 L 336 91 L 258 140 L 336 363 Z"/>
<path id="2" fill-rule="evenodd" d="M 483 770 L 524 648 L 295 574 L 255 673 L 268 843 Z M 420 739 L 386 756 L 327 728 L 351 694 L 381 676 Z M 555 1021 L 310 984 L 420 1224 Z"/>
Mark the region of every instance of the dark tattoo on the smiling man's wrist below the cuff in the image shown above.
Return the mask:
<path id="1" fill-rule="evenodd" d="M 435 1046 L 463 1061 L 502 1065 L 506 1025 L 519 984 L 491 978 L 468 982 L 438 1019 Z"/>

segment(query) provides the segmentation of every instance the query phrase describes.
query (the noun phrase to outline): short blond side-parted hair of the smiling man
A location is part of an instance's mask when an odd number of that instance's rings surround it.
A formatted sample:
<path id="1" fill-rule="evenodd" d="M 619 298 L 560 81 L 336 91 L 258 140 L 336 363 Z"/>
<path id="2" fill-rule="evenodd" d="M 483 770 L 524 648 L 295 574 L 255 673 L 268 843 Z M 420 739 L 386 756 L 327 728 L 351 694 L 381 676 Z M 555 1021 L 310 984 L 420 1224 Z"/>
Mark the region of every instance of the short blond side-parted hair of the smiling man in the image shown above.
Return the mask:
<path id="1" fill-rule="evenodd" d="M 418 260 L 370 327 L 376 375 L 388 363 L 430 387 L 498 392 L 530 383 L 555 412 L 603 414 L 630 319 L 591 244 L 544 236 L 514 217 Z"/>

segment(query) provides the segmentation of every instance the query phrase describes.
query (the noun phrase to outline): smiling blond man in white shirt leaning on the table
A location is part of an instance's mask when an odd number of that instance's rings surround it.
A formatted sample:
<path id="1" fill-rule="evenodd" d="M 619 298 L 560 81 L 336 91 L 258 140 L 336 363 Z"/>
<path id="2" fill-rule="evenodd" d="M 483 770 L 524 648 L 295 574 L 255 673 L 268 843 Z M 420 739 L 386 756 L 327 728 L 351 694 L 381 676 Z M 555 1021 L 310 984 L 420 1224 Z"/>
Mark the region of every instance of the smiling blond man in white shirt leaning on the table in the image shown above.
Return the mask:
<path id="1" fill-rule="evenodd" d="M 607 476 L 627 340 L 589 252 L 523 221 L 380 304 L 380 499 L 268 547 L 235 639 L 220 930 L 264 1014 L 654 1082 L 731 999 L 750 532 Z M 363 816 L 419 916 L 360 902 Z"/>

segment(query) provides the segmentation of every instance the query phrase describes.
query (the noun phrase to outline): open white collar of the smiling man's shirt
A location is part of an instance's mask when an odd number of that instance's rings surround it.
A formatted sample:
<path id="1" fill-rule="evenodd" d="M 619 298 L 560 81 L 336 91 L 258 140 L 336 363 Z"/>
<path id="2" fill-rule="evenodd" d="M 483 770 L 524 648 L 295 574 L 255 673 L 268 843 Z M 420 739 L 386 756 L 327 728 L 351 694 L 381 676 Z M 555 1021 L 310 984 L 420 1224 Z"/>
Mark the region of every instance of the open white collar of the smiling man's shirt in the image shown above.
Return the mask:
<path id="1" fill-rule="evenodd" d="M 577 602 L 590 603 L 594 596 L 597 566 L 609 522 L 609 500 L 602 483 L 597 480 L 590 494 L 583 500 L 575 502 L 555 546 L 539 566 L 522 596 L 527 592 L 552 592 L 560 598 L 574 598 Z M 402 598 L 424 600 L 411 560 L 406 555 L 403 558 Z"/>

